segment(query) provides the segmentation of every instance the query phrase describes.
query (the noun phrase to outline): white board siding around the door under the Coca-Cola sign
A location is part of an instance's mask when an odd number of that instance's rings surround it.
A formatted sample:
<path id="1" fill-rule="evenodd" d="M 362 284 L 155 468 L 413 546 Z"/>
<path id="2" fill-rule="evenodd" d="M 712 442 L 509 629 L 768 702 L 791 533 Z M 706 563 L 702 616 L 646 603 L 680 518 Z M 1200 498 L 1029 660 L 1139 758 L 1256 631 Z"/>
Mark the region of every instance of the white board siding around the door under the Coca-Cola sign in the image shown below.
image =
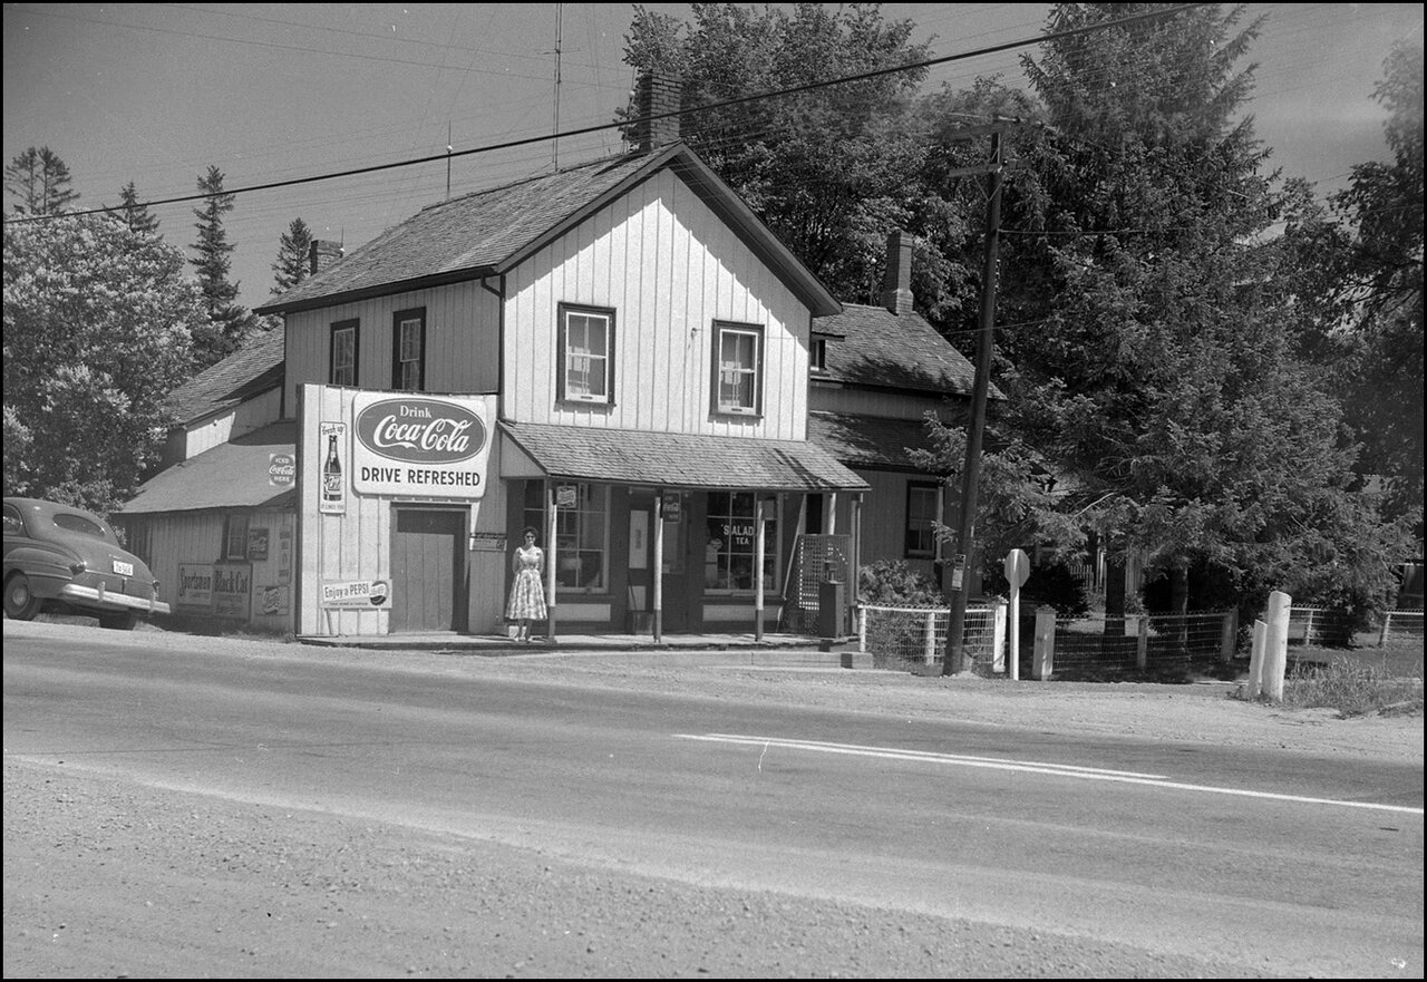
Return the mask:
<path id="1" fill-rule="evenodd" d="M 428 328 L 430 330 L 430 328 Z M 392 502 L 422 502 L 450 505 L 451 498 L 424 498 L 404 495 L 401 498 L 354 494 L 347 488 L 347 514 L 324 515 L 318 512 L 321 488 L 323 452 L 313 452 L 317 445 L 317 424 L 323 421 L 348 421 L 348 445 L 342 448 L 344 460 L 351 461 L 351 403 L 357 390 L 311 385 L 303 391 L 303 408 L 298 425 L 303 428 L 300 445 L 304 452 L 300 468 L 300 508 L 303 511 L 301 535 L 297 545 L 295 565 L 301 571 L 301 619 L 298 634 L 332 635 L 361 634 L 384 635 L 390 632 L 390 614 L 378 611 L 324 611 L 321 607 L 321 584 L 351 579 L 391 581 L 391 522 Z M 501 472 L 501 442 L 494 441 L 487 470 L 485 495 L 469 504 L 468 527 L 475 532 L 507 534 L 505 482 Z M 508 552 L 464 551 L 462 584 L 469 582 L 467 609 L 469 629 L 481 634 L 499 629 L 505 598 L 504 570 L 509 562 Z M 464 589 L 464 587 L 462 587 Z M 295 594 L 295 591 L 294 591 Z"/>

